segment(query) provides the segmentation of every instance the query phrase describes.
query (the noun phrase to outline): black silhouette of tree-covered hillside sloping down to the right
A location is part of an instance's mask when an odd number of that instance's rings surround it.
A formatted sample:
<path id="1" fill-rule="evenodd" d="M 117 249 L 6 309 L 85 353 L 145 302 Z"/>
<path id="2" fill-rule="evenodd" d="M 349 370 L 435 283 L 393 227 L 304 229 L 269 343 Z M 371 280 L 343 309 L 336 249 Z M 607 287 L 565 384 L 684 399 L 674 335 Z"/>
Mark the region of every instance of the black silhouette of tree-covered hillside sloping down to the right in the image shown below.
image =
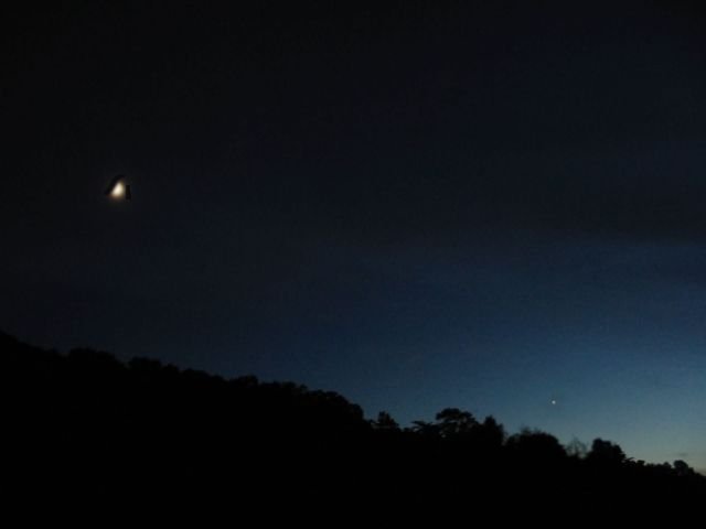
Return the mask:
<path id="1" fill-rule="evenodd" d="M 4 477 L 20 496 L 171 495 L 482 506 L 706 498 L 683 461 L 649 464 L 617 444 L 509 435 L 456 408 L 400 428 L 330 391 L 226 380 L 158 360 L 66 355 L 0 334 Z"/>

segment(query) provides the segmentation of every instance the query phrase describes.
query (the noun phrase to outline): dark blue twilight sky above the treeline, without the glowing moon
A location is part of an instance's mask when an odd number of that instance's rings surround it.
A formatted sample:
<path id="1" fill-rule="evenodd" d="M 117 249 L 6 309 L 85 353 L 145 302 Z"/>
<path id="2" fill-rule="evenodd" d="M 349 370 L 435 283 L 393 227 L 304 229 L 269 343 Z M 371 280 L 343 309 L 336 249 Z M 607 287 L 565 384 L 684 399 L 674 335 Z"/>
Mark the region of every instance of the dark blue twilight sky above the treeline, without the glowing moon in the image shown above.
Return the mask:
<path id="1" fill-rule="evenodd" d="M 706 469 L 697 3 L 204 3 L 0 17 L 0 328 Z"/>

